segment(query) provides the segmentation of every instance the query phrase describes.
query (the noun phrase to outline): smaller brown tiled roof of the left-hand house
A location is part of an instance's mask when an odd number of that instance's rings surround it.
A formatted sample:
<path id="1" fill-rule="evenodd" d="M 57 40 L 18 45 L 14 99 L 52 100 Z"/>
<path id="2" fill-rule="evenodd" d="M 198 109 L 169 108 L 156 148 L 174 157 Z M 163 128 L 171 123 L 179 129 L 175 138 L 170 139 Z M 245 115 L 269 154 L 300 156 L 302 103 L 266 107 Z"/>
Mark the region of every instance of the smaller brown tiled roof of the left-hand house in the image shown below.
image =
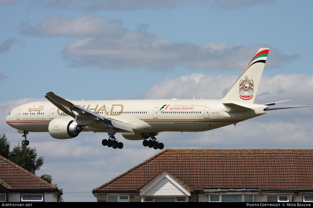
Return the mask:
<path id="1" fill-rule="evenodd" d="M 0 184 L 10 190 L 45 189 L 47 191 L 59 191 L 58 187 L 53 186 L 38 176 L 26 171 L 3 156 L 0 156 Z"/>

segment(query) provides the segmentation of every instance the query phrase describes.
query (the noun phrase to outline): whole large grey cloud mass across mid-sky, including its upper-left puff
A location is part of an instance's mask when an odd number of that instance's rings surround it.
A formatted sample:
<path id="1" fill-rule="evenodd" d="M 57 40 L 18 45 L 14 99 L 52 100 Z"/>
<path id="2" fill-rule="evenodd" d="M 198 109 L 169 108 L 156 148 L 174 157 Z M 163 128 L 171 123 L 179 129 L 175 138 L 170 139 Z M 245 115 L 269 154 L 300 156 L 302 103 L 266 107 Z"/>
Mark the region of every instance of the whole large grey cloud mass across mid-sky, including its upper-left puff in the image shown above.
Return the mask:
<path id="1" fill-rule="evenodd" d="M 36 26 L 21 25 L 24 35 L 73 36 L 74 41 L 63 48 L 64 58 L 72 66 L 101 68 L 172 69 L 244 69 L 255 53 L 267 45 L 235 46 L 226 42 L 208 42 L 204 46 L 176 43 L 141 31 L 122 27 L 120 20 L 81 15 L 55 16 Z M 298 55 L 285 55 L 270 49 L 267 68 L 280 67 L 295 61 Z"/>

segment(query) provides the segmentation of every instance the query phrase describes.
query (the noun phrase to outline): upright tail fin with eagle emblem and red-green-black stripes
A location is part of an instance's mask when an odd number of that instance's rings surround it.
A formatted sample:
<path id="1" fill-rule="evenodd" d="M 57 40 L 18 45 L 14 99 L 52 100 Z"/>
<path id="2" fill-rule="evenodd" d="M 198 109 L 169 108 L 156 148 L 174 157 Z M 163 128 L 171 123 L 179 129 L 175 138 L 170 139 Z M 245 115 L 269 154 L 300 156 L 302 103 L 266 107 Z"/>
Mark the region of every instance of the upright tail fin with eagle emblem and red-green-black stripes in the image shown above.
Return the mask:
<path id="1" fill-rule="evenodd" d="M 260 48 L 222 100 L 253 103 L 269 48 Z"/>

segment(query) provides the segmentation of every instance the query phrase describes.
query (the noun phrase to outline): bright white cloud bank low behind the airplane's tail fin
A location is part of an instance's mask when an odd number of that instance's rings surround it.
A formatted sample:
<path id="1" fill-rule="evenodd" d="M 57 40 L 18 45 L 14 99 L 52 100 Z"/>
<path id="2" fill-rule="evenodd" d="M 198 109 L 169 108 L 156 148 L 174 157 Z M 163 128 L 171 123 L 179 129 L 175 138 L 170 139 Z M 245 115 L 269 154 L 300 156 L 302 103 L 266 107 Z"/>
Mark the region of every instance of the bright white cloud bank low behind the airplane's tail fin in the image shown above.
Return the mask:
<path id="1" fill-rule="evenodd" d="M 192 73 L 180 78 L 166 78 L 163 82 L 150 85 L 149 91 L 141 92 L 137 99 L 221 99 L 228 92 L 235 75 L 203 75 Z M 312 102 L 313 76 L 306 74 L 277 74 L 274 77 L 262 76 L 257 103 L 296 99 L 298 102 Z M 271 99 L 271 101 L 269 101 Z M 308 103 L 303 103 L 308 104 Z"/>

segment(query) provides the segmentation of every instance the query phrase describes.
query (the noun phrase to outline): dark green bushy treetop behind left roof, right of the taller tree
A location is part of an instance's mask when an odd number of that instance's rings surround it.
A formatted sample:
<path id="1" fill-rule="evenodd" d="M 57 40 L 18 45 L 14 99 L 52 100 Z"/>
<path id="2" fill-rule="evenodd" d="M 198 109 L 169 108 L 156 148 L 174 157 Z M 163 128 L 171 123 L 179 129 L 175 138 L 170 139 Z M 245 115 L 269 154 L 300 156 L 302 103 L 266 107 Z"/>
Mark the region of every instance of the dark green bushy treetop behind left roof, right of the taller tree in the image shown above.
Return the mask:
<path id="1" fill-rule="evenodd" d="M 30 148 L 20 143 L 13 148 L 8 157 L 10 161 L 33 174 L 36 174 L 36 171 L 44 164 L 44 157 L 39 156 L 38 159 L 36 158 L 37 152 L 35 147 Z"/>

